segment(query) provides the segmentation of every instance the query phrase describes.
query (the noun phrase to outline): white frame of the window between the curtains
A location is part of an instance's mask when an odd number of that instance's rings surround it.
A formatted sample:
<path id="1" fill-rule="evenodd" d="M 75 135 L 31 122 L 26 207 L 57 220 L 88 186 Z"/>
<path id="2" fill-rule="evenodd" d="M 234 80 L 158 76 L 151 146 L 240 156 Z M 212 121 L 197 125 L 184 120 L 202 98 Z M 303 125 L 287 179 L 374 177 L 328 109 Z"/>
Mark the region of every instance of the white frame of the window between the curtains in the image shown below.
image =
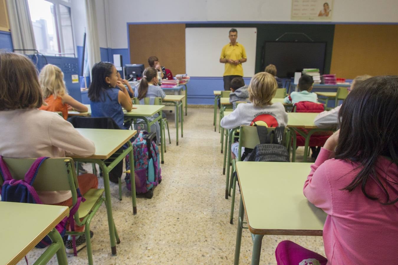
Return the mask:
<path id="1" fill-rule="evenodd" d="M 60 54 L 47 54 L 47 56 L 57 56 L 57 57 L 76 57 L 76 43 L 74 38 L 74 28 L 73 28 L 73 17 L 72 17 L 72 3 L 64 0 L 45 0 L 47 2 L 52 3 L 55 6 L 55 25 L 56 25 L 56 34 L 57 34 L 57 41 L 59 45 L 59 50 L 61 51 Z M 70 24 L 72 27 L 72 43 L 73 43 L 73 56 L 72 53 L 62 54 L 65 53 L 64 47 L 64 36 L 62 34 L 62 25 L 61 25 L 61 16 L 60 16 L 60 7 L 59 5 L 66 6 L 70 9 Z M 30 18 L 30 21 L 32 19 Z M 32 22 L 31 22 L 32 23 Z M 39 51 L 40 52 L 40 51 Z"/>

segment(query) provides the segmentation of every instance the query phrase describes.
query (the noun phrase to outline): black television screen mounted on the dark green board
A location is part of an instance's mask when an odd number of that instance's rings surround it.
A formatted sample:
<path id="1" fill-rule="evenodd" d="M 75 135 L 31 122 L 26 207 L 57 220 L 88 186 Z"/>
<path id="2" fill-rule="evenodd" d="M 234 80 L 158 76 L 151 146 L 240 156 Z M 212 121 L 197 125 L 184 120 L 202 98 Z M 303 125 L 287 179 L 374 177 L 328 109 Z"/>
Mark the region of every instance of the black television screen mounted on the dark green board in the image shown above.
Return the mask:
<path id="1" fill-rule="evenodd" d="M 264 46 L 264 66 L 274 64 L 278 77 L 294 77 L 303 68 L 324 72 L 326 42 L 269 41 Z"/>

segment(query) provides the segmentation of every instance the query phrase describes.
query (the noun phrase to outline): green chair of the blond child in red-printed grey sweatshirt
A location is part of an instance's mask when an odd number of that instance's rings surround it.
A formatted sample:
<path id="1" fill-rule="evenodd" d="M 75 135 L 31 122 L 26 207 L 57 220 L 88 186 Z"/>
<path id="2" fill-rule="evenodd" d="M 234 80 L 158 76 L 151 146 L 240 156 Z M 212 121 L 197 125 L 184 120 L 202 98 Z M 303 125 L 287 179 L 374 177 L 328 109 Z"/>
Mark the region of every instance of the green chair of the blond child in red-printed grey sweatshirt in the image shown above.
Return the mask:
<path id="1" fill-rule="evenodd" d="M 267 128 L 268 130 L 275 130 L 275 128 Z M 246 126 L 242 125 L 239 128 L 239 149 L 238 149 L 238 157 L 232 160 L 232 170 L 231 170 L 231 182 L 230 186 L 232 186 L 232 196 L 231 196 L 231 214 L 230 214 L 230 224 L 232 224 L 232 220 L 234 218 L 234 205 L 235 205 L 235 190 L 236 190 L 236 174 L 234 174 L 236 170 L 236 162 L 241 161 L 242 157 L 242 147 L 252 148 L 256 147 L 256 145 L 260 144 L 260 140 L 258 139 L 257 128 L 255 126 Z M 288 149 L 290 149 L 290 129 L 285 127 L 284 139 L 282 144 Z M 290 152 L 289 152 L 290 153 Z M 261 174 L 261 172 L 259 172 Z"/>

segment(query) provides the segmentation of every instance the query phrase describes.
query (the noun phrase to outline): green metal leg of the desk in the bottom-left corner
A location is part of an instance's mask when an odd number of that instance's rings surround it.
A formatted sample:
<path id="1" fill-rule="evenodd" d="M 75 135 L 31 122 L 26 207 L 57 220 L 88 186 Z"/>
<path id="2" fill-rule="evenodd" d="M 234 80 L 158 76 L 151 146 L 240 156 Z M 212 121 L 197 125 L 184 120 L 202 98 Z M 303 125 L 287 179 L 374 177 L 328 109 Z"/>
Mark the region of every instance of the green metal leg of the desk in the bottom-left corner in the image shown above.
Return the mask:
<path id="1" fill-rule="evenodd" d="M 61 235 L 57 231 L 57 229 L 53 228 L 51 232 L 48 234 L 49 238 L 53 242 L 46 251 L 35 261 L 33 265 L 41 265 L 47 264 L 50 259 L 57 254 L 57 261 L 60 265 L 68 264 L 68 260 L 66 259 L 66 252 L 64 242 L 62 241 Z"/>

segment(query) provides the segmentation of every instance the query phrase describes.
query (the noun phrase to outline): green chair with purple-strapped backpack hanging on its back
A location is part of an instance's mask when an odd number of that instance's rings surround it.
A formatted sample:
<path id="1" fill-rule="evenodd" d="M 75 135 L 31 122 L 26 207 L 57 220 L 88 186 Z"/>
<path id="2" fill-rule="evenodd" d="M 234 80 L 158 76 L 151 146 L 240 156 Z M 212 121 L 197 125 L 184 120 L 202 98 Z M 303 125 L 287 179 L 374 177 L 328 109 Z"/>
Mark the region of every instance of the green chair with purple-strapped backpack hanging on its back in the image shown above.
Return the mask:
<path id="1" fill-rule="evenodd" d="M 6 162 L 8 169 L 14 179 L 24 179 L 25 173 L 29 170 L 35 159 L 16 159 L 16 158 L 3 158 Z M 33 187 L 36 191 L 65 191 L 70 190 L 72 193 L 72 206 L 77 203 L 77 188 L 79 187 L 75 174 L 74 163 L 71 158 L 60 157 L 51 158 L 43 162 L 39 168 Z M 0 173 L 0 186 L 3 184 L 4 179 Z M 78 226 L 85 226 L 84 232 L 70 232 L 66 234 L 75 236 L 86 236 L 87 242 L 87 256 L 88 264 L 93 264 L 92 248 L 90 240 L 90 223 L 101 204 L 105 199 L 102 197 L 104 189 L 90 189 L 82 194 L 84 202 L 80 203 L 78 211 L 74 214 L 74 221 Z M 70 207 L 71 208 L 71 207 Z M 40 213 L 38 213 L 40 214 Z M 112 220 L 113 222 L 113 220 Z M 119 236 L 117 235 L 115 223 L 115 237 L 117 244 L 120 243 Z"/>

